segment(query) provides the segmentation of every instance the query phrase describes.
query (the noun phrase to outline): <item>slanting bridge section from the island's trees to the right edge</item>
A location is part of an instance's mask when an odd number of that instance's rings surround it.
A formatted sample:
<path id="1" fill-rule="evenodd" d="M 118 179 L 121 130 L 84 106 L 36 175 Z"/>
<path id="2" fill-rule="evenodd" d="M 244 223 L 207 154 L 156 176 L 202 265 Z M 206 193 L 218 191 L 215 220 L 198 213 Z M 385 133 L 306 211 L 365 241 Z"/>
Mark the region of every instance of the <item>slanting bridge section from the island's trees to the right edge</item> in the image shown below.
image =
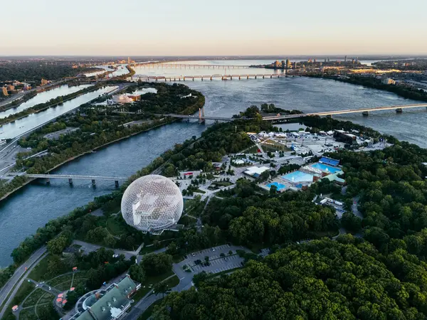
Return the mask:
<path id="1" fill-rule="evenodd" d="M 373 107 L 373 108 L 362 108 L 362 109 L 347 109 L 347 110 L 336 110 L 336 111 L 327 111 L 327 112 L 311 112 L 311 113 L 302 113 L 302 114 L 286 114 L 286 115 L 275 115 L 263 117 L 263 120 L 281 120 L 281 119 L 292 119 L 300 117 L 311 117 L 311 116 L 330 116 L 334 114 L 350 114 L 350 113 L 362 113 L 364 116 L 367 116 L 369 112 L 381 111 L 381 110 L 396 110 L 397 113 L 401 113 L 404 109 L 409 108 L 421 108 L 426 107 L 427 103 L 420 103 L 414 105 L 392 105 L 386 107 Z"/>

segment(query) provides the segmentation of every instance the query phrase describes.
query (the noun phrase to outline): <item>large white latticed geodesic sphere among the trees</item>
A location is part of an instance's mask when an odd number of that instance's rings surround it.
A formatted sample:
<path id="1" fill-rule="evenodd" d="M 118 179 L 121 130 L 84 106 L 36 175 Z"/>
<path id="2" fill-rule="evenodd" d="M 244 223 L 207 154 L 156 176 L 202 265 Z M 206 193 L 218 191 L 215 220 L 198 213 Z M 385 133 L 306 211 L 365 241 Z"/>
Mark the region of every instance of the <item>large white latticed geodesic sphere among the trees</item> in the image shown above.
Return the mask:
<path id="1" fill-rule="evenodd" d="M 122 215 L 128 225 L 144 233 L 162 233 L 181 218 L 184 201 L 176 184 L 164 176 L 142 176 L 127 187 Z"/>

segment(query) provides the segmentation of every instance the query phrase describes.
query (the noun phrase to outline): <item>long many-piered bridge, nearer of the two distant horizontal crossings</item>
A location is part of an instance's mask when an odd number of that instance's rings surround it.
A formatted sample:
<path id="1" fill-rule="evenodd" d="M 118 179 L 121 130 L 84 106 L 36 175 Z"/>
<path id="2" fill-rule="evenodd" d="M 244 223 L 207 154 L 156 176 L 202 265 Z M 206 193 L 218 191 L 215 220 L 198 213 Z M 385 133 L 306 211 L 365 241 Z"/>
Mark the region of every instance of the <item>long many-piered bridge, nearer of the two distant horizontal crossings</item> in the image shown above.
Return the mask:
<path id="1" fill-rule="evenodd" d="M 139 80 L 149 81 L 149 80 L 155 80 L 155 81 L 169 81 L 169 82 L 176 82 L 176 81 L 185 81 L 185 80 L 191 80 L 194 81 L 194 79 L 201 79 L 203 80 L 214 80 L 214 79 L 221 79 L 221 80 L 233 80 L 233 79 L 273 79 L 273 78 L 283 78 L 288 77 L 286 73 L 251 73 L 251 74 L 243 74 L 243 75 L 232 75 L 232 74 L 225 74 L 225 75 L 133 75 L 132 78 L 137 78 Z"/>

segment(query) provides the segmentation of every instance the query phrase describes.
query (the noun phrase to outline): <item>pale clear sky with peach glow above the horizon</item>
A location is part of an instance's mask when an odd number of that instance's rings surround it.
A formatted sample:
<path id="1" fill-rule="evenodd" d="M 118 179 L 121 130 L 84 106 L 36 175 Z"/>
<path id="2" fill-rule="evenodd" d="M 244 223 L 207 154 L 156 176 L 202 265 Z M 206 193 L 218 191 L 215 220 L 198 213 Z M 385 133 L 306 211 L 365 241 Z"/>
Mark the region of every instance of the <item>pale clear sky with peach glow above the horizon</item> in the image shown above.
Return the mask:
<path id="1" fill-rule="evenodd" d="M 427 54 L 426 0 L 20 0 L 0 55 Z"/>

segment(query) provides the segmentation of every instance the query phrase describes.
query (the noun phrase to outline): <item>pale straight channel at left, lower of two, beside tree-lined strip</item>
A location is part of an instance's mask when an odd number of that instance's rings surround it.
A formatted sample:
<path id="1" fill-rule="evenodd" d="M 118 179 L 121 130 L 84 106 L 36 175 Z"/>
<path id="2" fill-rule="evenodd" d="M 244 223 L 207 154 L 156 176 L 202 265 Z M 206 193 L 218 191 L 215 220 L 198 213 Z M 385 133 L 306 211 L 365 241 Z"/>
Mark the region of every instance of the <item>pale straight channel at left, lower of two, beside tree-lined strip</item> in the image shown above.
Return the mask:
<path id="1" fill-rule="evenodd" d="M 74 110 L 76 107 L 95 99 L 95 97 L 103 95 L 105 92 L 110 92 L 115 88 L 116 87 L 112 86 L 102 87 L 95 91 L 75 97 L 72 100 L 65 101 L 62 105 L 48 108 L 42 112 L 28 114 L 28 117 L 16 120 L 15 122 L 4 124 L 0 129 L 0 138 L 11 139 L 17 137 L 19 134 L 28 132 L 29 130 L 38 127 L 39 125 L 48 122 L 51 119 L 59 117 L 61 114 Z"/>

